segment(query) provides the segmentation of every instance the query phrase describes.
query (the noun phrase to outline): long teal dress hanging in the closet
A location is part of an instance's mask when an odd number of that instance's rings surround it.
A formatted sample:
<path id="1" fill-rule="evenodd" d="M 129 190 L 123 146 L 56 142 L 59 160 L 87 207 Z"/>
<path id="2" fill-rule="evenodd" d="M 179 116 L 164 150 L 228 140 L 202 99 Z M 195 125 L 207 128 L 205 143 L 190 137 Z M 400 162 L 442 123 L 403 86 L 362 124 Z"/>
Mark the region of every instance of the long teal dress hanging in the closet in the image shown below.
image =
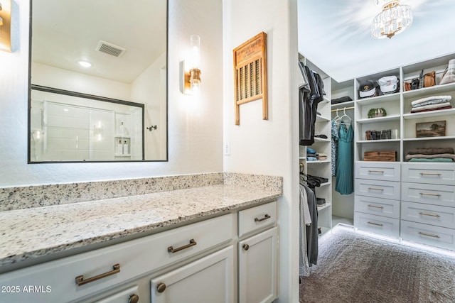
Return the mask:
<path id="1" fill-rule="evenodd" d="M 338 133 L 338 162 L 336 163 L 336 185 L 335 190 L 340 194 L 351 194 L 354 192 L 353 185 L 353 125 L 349 128 L 340 123 Z"/>

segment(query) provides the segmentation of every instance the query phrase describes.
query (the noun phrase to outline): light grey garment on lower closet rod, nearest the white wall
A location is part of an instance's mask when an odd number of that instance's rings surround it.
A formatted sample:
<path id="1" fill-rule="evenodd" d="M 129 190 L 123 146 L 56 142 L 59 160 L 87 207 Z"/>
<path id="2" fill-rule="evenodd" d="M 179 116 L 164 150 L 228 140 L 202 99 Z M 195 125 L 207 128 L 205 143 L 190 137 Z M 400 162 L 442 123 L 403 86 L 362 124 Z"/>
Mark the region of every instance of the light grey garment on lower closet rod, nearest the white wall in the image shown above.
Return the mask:
<path id="1" fill-rule="evenodd" d="M 308 262 L 308 248 L 306 245 L 306 226 L 311 225 L 311 214 L 308 206 L 308 197 L 304 185 L 300 185 L 300 228 L 299 228 L 299 275 L 308 277 L 310 265 Z"/>

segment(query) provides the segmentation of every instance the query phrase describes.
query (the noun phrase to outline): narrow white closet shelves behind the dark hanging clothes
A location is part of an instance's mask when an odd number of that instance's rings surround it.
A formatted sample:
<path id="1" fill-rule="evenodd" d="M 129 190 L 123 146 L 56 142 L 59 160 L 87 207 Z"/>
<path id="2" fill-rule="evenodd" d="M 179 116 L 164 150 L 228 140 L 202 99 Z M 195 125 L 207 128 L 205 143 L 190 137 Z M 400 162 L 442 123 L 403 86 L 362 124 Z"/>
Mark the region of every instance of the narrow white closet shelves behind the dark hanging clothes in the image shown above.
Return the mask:
<path id="1" fill-rule="evenodd" d="M 304 164 L 303 172 L 306 175 L 325 177 L 328 182 L 322 183 L 316 187 L 316 197 L 326 199 L 326 204 L 318 206 L 318 227 L 321 228 L 321 234 L 326 233 L 332 228 L 332 182 L 331 182 L 331 78 L 319 67 L 314 65 L 306 57 L 299 55 L 299 60 L 308 66 L 310 70 L 321 75 L 324 83 L 326 95 L 323 101 L 318 104 L 318 112 L 321 115 L 316 116 L 315 135 L 326 135 L 327 139 L 314 138 L 314 144 L 309 146 L 318 153 L 325 153 L 327 160 L 306 160 L 306 146 L 300 146 L 299 162 Z"/>

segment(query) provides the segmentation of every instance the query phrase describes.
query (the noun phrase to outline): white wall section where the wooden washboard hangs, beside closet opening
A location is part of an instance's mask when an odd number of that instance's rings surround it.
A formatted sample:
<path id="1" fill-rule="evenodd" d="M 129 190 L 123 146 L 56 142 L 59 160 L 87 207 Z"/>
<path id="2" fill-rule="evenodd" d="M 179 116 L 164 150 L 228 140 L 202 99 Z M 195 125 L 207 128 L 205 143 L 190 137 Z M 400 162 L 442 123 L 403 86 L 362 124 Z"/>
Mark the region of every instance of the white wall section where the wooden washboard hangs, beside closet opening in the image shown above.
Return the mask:
<path id="1" fill-rule="evenodd" d="M 299 302 L 296 6 L 296 0 L 223 1 L 223 132 L 231 149 L 224 157 L 224 170 L 284 177 L 279 199 L 279 302 Z M 262 101 L 252 101 L 240 105 L 240 126 L 235 126 L 232 50 L 262 31 L 267 33 L 269 119 L 262 120 Z"/>

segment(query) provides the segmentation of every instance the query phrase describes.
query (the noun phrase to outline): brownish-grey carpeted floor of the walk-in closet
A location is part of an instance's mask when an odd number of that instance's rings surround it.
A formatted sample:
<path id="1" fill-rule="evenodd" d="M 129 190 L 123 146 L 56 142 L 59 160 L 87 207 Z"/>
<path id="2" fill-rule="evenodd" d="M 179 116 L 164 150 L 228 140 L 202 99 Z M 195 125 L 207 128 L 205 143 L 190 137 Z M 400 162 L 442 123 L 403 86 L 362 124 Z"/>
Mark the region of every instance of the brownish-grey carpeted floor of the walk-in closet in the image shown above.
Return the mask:
<path id="1" fill-rule="evenodd" d="M 336 226 L 319 241 L 300 302 L 455 302 L 455 258 Z"/>

